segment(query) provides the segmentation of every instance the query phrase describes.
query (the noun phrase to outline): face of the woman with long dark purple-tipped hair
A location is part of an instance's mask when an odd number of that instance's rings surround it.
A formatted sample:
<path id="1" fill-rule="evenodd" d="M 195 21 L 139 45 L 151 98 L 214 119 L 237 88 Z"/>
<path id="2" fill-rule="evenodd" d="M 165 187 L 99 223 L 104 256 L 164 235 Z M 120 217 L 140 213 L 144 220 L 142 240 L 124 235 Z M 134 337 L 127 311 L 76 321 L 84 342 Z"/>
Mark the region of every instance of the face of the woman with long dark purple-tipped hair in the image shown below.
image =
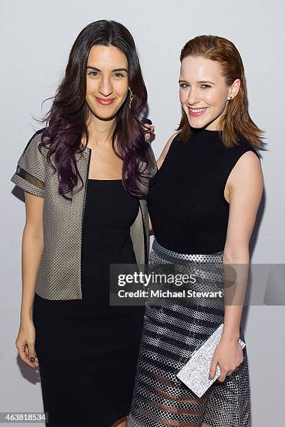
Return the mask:
<path id="1" fill-rule="evenodd" d="M 128 61 L 114 46 L 92 46 L 87 61 L 86 102 L 101 120 L 115 117 L 128 95 Z"/>

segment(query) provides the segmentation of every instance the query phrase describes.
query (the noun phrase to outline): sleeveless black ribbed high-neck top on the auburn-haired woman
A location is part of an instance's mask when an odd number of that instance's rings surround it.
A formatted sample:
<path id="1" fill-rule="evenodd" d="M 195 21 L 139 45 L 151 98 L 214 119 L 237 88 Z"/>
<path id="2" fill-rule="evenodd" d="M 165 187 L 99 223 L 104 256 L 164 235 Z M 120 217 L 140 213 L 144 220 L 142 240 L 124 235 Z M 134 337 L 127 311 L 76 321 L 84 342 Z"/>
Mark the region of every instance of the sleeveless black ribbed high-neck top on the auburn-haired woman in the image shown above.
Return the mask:
<path id="1" fill-rule="evenodd" d="M 157 242 L 178 253 L 224 250 L 229 204 L 224 188 L 246 151 L 258 153 L 240 136 L 228 149 L 217 130 L 196 130 L 189 142 L 179 134 L 149 183 L 147 205 Z M 258 156 L 259 158 L 259 156 Z"/>

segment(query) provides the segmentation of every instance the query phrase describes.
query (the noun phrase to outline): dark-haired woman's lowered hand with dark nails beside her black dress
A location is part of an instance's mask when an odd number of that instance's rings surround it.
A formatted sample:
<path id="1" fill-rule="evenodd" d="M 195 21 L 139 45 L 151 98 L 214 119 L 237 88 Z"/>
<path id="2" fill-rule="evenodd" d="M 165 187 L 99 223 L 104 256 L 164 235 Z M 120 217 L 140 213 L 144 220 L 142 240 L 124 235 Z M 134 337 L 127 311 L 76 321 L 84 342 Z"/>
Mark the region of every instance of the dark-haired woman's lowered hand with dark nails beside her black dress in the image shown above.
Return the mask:
<path id="1" fill-rule="evenodd" d="M 35 342 L 36 329 L 34 327 L 34 322 L 32 320 L 21 322 L 15 345 L 22 361 L 31 366 L 31 368 L 38 368 Z M 30 357 L 34 357 L 34 362 L 29 360 Z"/>

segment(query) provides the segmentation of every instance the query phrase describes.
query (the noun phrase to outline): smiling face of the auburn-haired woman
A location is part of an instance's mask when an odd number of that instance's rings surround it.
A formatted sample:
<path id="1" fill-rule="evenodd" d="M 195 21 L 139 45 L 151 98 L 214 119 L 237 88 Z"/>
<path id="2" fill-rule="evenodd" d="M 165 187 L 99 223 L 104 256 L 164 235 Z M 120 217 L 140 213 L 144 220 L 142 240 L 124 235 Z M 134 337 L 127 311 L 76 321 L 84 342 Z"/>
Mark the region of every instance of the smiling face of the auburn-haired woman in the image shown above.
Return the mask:
<path id="1" fill-rule="evenodd" d="M 219 130 L 227 103 L 240 88 L 240 80 L 226 86 L 219 63 L 204 57 L 185 57 L 180 68 L 180 102 L 192 128 Z"/>

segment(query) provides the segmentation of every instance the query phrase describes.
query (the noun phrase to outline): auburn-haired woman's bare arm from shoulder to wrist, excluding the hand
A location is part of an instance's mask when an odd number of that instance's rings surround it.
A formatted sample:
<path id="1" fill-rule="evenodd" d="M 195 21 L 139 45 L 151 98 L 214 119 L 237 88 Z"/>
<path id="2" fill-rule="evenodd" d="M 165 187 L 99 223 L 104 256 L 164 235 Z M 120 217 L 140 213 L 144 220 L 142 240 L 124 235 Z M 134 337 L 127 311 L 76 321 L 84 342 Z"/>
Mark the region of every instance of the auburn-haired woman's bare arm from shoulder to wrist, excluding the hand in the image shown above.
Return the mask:
<path id="1" fill-rule="evenodd" d="M 228 177 L 230 211 L 224 263 L 237 266 L 236 304 L 225 305 L 224 329 L 222 337 L 238 339 L 243 298 L 247 287 L 247 267 L 249 265 L 249 241 L 256 221 L 256 213 L 263 193 L 263 174 L 256 154 L 247 151 L 236 163 Z M 241 264 L 240 268 L 238 264 Z"/>

